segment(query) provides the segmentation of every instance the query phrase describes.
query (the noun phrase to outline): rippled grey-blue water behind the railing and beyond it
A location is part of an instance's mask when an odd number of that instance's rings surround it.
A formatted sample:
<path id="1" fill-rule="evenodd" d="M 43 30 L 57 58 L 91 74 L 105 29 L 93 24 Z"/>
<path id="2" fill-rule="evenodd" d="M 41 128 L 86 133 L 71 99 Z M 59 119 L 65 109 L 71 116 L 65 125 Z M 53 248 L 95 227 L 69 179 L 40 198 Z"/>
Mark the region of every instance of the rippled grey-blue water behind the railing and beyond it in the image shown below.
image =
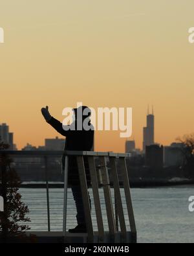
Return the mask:
<path id="1" fill-rule="evenodd" d="M 47 231 L 47 200 L 45 189 L 20 189 L 23 202 L 30 209 L 31 230 Z M 92 200 L 92 192 L 89 190 Z M 113 191 L 111 191 L 113 194 Z M 124 202 L 124 190 L 121 189 Z M 63 189 L 49 189 L 51 231 L 61 231 L 63 222 Z M 131 189 L 133 209 L 135 213 L 138 242 L 194 242 L 194 212 L 188 210 L 188 198 L 194 195 L 194 186 L 158 187 Z M 107 217 L 100 189 L 103 220 L 105 229 Z M 93 200 L 92 200 L 93 206 Z M 76 226 L 75 205 L 70 189 L 68 191 L 67 229 Z M 124 204 L 127 218 L 127 209 Z M 92 207 L 94 230 L 96 217 Z M 129 222 L 127 221 L 127 227 Z"/>

